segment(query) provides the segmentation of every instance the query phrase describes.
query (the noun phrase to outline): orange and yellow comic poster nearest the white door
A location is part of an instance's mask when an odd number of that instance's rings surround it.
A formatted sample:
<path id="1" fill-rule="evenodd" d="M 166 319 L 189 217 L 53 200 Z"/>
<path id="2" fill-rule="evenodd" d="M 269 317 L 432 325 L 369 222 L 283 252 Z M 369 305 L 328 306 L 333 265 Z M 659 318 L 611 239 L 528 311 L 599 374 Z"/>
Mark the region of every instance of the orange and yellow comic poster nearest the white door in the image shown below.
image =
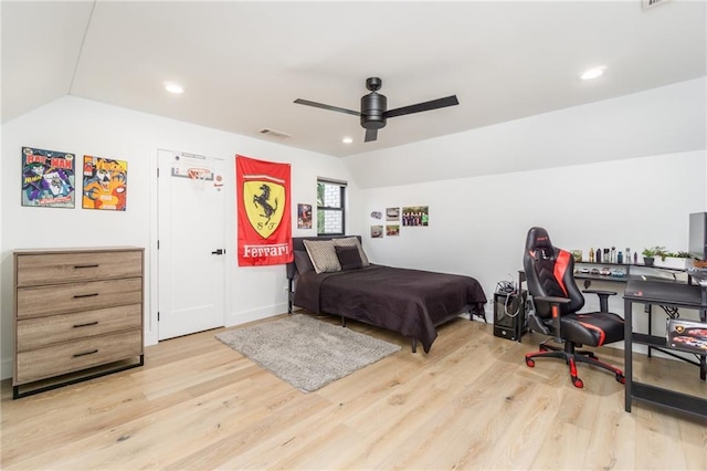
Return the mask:
<path id="1" fill-rule="evenodd" d="M 127 161 L 84 156 L 84 209 L 125 211 L 127 196 Z"/>

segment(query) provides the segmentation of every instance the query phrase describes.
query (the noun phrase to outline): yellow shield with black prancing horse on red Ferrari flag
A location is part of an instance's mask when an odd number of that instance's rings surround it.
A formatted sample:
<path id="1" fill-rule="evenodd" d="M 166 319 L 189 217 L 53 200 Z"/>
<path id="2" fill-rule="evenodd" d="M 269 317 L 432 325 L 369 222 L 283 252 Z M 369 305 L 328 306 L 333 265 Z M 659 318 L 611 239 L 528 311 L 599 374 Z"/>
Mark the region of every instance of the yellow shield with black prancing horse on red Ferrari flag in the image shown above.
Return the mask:
<path id="1" fill-rule="evenodd" d="M 247 219 L 255 231 L 267 239 L 279 226 L 284 213 L 285 187 L 272 181 L 250 180 L 243 182 L 244 205 Z"/>

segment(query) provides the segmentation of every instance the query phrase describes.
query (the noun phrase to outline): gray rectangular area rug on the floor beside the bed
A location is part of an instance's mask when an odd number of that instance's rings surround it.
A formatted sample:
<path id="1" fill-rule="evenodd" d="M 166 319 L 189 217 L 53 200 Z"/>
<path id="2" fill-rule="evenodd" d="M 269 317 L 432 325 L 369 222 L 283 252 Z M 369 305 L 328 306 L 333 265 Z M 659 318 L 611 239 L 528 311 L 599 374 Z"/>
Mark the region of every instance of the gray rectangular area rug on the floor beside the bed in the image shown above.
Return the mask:
<path id="1" fill-rule="evenodd" d="M 304 393 L 400 350 L 399 345 L 303 314 L 215 337 Z"/>

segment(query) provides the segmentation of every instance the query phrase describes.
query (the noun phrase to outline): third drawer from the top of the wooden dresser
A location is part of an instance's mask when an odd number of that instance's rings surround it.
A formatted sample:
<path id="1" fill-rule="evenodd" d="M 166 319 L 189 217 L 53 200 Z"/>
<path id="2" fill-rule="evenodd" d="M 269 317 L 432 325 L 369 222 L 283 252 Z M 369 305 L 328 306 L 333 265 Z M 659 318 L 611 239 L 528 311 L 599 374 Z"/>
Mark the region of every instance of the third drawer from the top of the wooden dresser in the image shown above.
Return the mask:
<path id="1" fill-rule="evenodd" d="M 61 342 L 78 341 L 95 335 L 141 328 L 141 304 L 22 318 L 17 325 L 17 349 L 27 352 Z"/>

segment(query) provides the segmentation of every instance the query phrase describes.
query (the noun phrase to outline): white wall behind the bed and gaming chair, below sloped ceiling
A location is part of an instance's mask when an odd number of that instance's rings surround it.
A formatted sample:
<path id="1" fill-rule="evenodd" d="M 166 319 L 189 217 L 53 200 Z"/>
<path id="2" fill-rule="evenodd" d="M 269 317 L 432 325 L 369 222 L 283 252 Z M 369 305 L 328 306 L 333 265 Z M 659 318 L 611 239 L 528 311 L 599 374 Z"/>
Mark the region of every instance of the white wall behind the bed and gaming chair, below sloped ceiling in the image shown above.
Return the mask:
<path id="1" fill-rule="evenodd" d="M 612 245 L 687 250 L 688 214 L 705 210 L 706 161 L 692 151 L 362 189 L 363 227 L 380 223 L 371 211 L 430 207 L 430 227 L 367 234 L 363 244 L 374 263 L 469 274 L 490 299 L 496 282 L 517 279 L 532 226 L 585 255 Z"/>

